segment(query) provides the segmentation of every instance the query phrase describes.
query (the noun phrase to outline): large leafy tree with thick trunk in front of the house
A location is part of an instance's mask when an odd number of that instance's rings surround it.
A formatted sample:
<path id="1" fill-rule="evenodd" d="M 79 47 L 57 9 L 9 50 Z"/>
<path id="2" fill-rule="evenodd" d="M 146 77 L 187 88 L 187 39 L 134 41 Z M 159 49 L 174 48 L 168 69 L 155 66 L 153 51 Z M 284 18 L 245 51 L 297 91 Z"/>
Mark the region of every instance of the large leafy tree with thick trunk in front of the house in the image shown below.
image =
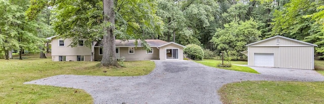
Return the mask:
<path id="1" fill-rule="evenodd" d="M 142 30 L 159 34 L 159 28 L 163 26 L 155 14 L 155 3 L 149 0 L 31 0 L 31 3 L 27 11 L 29 19 L 34 19 L 46 7 L 55 7 L 54 30 L 59 37 L 71 38 L 70 46 L 76 46 L 79 39 L 86 39 L 86 46 L 91 46 L 92 41 L 102 42 L 104 55 L 101 65 L 107 67 L 119 66 L 115 56 L 115 38 L 143 40 Z M 142 45 L 150 48 L 145 41 Z"/>

